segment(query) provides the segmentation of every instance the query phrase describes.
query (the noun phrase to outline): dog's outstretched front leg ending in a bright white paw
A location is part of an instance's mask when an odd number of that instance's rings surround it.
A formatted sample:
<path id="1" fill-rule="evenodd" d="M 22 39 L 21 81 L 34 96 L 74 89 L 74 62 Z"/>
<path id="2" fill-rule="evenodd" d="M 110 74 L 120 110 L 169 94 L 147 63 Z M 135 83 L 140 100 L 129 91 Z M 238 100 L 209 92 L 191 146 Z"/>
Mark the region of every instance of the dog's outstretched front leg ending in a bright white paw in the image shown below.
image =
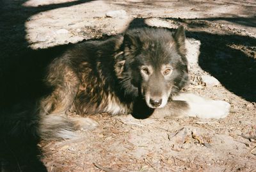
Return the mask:
<path id="1" fill-rule="evenodd" d="M 208 100 L 192 93 L 180 93 L 171 102 L 155 109 L 151 118 L 163 117 L 198 117 L 225 118 L 230 110 L 230 104 L 222 100 Z"/>

